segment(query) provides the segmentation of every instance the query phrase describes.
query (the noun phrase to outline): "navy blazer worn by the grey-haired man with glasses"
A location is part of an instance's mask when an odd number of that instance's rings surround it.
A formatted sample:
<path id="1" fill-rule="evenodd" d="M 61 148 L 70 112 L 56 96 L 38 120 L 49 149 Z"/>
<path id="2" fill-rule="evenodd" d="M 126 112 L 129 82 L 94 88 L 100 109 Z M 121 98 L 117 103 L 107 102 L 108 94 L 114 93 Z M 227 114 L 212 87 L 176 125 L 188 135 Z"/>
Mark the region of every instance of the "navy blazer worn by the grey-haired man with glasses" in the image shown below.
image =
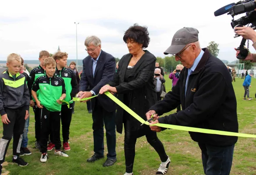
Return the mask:
<path id="1" fill-rule="evenodd" d="M 115 58 L 109 53 L 101 50 L 94 77 L 92 73 L 92 57 L 85 57 L 85 59 L 83 59 L 83 71 L 79 82 L 79 91 L 87 91 L 89 87 L 90 91 L 94 91 L 96 95 L 99 94 L 100 88 L 113 80 L 115 72 Z M 116 109 L 115 103 L 103 94 L 91 99 L 92 110 L 94 109 L 96 101 L 97 105 L 101 105 L 107 112 L 112 112 Z"/>

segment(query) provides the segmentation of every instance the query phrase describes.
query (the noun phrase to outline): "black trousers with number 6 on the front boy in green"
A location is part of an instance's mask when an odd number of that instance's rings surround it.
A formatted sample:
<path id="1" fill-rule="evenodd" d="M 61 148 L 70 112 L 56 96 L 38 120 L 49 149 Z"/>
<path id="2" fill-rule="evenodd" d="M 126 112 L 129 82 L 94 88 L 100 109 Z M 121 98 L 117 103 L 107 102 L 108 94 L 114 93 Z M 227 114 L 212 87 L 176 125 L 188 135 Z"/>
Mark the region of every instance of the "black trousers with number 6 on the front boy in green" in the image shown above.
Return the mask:
<path id="1" fill-rule="evenodd" d="M 41 136 L 40 136 L 40 146 L 41 153 L 47 152 L 47 141 L 50 132 L 53 134 L 53 143 L 55 144 L 55 149 L 60 150 L 60 112 L 50 112 L 45 107 L 40 109 L 41 113 Z"/>

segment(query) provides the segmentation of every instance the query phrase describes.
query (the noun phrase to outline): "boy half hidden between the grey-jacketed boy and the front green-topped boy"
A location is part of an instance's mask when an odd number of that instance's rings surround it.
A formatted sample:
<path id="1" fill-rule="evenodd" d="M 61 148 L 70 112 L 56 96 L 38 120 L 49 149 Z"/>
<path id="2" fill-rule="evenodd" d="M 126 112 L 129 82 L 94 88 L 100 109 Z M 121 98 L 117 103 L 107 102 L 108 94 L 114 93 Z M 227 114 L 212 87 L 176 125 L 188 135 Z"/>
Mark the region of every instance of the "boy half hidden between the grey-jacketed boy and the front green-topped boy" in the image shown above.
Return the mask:
<path id="1" fill-rule="evenodd" d="M 31 77 L 31 81 L 34 84 L 36 79 L 38 77 L 41 77 L 44 75 L 44 69 L 43 69 L 43 64 L 44 64 L 44 59 L 50 57 L 50 53 L 47 52 L 46 50 L 42 50 L 41 52 L 39 52 L 39 66 L 37 66 L 36 68 L 32 69 L 30 72 L 30 77 Z M 32 88 L 32 84 L 30 85 L 30 87 L 28 87 L 29 89 Z M 37 92 L 37 98 L 38 98 L 38 93 Z M 36 134 L 36 149 L 40 149 L 40 113 L 39 113 L 39 108 L 37 107 L 36 103 L 35 103 L 35 99 L 32 97 L 32 95 L 30 95 L 30 106 L 33 107 L 33 111 L 35 113 L 35 134 Z"/>

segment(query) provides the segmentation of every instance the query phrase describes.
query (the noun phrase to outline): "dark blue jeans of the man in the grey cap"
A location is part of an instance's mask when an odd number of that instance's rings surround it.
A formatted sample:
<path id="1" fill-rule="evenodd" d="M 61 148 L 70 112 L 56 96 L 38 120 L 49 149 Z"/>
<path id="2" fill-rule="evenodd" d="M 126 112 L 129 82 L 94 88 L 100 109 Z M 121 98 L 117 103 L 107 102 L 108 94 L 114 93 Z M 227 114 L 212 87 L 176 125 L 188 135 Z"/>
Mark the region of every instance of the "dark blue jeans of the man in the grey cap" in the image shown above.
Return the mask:
<path id="1" fill-rule="evenodd" d="M 216 147 L 198 143 L 202 151 L 203 171 L 206 175 L 229 175 L 234 153 L 234 145 Z"/>

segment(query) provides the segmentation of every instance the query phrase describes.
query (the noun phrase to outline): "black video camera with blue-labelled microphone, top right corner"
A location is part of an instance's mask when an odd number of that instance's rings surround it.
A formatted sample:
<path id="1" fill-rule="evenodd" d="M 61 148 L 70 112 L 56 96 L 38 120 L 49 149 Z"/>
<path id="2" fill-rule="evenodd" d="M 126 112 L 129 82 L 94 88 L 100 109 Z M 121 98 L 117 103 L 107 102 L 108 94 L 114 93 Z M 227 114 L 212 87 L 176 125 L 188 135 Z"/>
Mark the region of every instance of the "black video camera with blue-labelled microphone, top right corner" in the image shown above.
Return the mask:
<path id="1" fill-rule="evenodd" d="M 235 27 L 241 27 L 244 25 L 248 25 L 252 24 L 250 27 L 252 29 L 256 29 L 256 1 L 255 0 L 240 0 L 239 2 L 237 2 L 236 4 L 228 4 L 227 6 L 224 6 L 222 8 L 220 8 L 219 10 L 214 12 L 215 16 L 219 16 L 222 14 L 225 14 L 228 12 L 228 14 L 230 14 L 232 16 L 232 21 L 231 21 L 231 27 L 235 28 Z M 234 16 L 238 15 L 238 14 L 243 14 L 246 13 L 245 16 L 234 20 Z M 240 35 L 235 35 L 234 38 L 238 37 Z M 248 49 L 245 48 L 245 42 L 246 39 L 242 38 L 242 41 L 239 45 L 239 47 L 237 48 L 238 50 L 240 50 L 237 58 L 238 59 L 245 59 L 246 56 L 248 55 Z M 249 48 L 249 45 L 248 45 Z"/>

